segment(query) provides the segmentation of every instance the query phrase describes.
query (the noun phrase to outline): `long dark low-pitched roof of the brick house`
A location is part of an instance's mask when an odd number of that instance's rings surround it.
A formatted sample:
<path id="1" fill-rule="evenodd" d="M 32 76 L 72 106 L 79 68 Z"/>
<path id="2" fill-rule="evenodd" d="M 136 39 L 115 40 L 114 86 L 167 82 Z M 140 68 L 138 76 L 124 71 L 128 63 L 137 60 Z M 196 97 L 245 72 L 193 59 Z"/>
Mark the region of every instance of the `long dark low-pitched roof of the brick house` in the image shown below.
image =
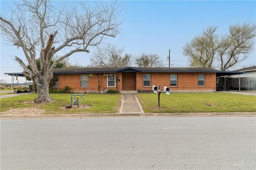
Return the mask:
<path id="1" fill-rule="evenodd" d="M 217 76 L 242 74 L 240 71 L 218 71 L 207 67 L 84 67 L 56 68 L 54 74 L 83 74 L 83 73 L 118 73 L 118 72 L 150 72 L 150 73 L 216 73 Z M 5 73 L 23 76 L 22 73 Z"/>

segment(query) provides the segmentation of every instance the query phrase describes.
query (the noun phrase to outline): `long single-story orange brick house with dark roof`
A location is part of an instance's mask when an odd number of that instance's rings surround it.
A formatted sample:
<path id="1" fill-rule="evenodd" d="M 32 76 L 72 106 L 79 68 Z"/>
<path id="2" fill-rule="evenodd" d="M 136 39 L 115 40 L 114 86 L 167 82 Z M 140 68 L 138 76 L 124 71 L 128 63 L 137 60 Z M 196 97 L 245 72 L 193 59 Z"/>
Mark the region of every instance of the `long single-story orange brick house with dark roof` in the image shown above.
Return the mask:
<path id="1" fill-rule="evenodd" d="M 19 73 L 6 73 L 9 75 Z M 216 77 L 241 74 L 240 72 L 218 71 L 205 67 L 85 67 L 54 69 L 54 89 L 66 85 L 77 93 L 100 92 L 106 89 L 118 91 L 152 91 L 152 86 L 161 85 L 170 91 L 213 92 L 216 91 Z"/>

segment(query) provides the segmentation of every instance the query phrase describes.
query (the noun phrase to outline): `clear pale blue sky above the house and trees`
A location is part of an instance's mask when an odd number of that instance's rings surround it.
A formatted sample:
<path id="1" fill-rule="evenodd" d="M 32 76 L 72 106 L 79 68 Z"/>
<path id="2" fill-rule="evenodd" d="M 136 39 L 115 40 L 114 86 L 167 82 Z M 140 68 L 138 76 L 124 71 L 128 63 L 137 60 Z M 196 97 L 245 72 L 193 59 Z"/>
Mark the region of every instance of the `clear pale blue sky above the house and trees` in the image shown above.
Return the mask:
<path id="1" fill-rule="evenodd" d="M 142 53 L 159 55 L 168 67 L 170 53 L 171 67 L 187 67 L 187 58 L 182 55 L 184 45 L 199 35 L 208 26 L 218 26 L 218 34 L 227 34 L 230 24 L 256 22 L 256 1 L 120 1 L 123 10 L 121 35 L 108 38 L 107 43 L 124 47 L 125 53 L 139 56 Z M 8 2 L 9 3 L 9 2 Z M 62 1 L 54 1 L 62 3 Z M 1 0 L 1 12 L 6 8 Z M 255 46 L 255 45 L 254 45 Z M 22 68 L 11 57 L 24 56 L 21 48 L 7 46 L 1 40 L 0 79 L 11 82 L 4 73 L 22 72 Z M 70 56 L 70 62 L 89 65 L 90 53 Z M 10 57 L 11 56 L 11 57 Z M 24 58 L 24 57 L 23 57 Z M 256 65 L 256 51 L 232 70 Z M 25 79 L 19 78 L 19 83 Z M 16 82 L 15 82 L 16 83 Z"/>

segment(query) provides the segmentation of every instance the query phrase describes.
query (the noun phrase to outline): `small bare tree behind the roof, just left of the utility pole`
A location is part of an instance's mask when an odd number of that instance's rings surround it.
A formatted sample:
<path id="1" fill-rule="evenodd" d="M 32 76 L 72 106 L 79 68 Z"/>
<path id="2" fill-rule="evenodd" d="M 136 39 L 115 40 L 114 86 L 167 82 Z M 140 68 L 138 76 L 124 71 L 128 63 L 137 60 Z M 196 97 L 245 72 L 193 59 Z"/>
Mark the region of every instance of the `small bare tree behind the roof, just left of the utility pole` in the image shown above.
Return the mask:
<path id="1" fill-rule="evenodd" d="M 135 59 L 135 65 L 138 67 L 163 67 L 163 62 L 156 54 L 143 53 Z"/>

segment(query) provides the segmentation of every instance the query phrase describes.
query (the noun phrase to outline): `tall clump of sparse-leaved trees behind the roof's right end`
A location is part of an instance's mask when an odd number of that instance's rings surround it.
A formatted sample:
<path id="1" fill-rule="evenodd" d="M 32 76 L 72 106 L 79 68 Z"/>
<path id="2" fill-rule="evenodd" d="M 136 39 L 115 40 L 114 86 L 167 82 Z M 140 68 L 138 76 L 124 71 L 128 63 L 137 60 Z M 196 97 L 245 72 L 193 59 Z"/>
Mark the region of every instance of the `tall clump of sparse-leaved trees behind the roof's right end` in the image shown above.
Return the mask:
<path id="1" fill-rule="evenodd" d="M 183 47 L 192 67 L 218 67 L 225 71 L 243 61 L 252 52 L 256 25 L 235 24 L 229 27 L 229 34 L 218 36 L 217 27 L 208 27 Z"/>

